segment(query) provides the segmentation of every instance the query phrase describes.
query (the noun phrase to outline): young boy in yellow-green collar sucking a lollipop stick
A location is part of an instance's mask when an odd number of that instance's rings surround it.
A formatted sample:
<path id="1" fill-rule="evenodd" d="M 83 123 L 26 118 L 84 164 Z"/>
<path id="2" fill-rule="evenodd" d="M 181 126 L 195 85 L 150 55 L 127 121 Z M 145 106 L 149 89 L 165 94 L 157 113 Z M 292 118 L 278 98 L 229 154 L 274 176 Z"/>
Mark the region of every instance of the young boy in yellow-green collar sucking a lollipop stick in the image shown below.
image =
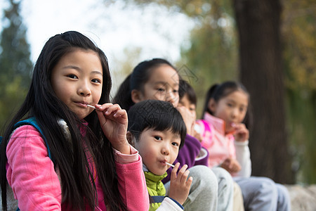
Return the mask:
<path id="1" fill-rule="evenodd" d="M 173 163 L 183 146 L 186 127 L 183 118 L 171 103 L 165 101 L 141 101 L 129 110 L 127 139 L 143 158 L 147 190 L 150 194 L 150 210 L 183 210 L 192 184 L 187 179 L 187 165 L 179 170 L 177 163 L 171 172 L 169 196 L 162 179 L 166 177 L 169 163 Z"/>

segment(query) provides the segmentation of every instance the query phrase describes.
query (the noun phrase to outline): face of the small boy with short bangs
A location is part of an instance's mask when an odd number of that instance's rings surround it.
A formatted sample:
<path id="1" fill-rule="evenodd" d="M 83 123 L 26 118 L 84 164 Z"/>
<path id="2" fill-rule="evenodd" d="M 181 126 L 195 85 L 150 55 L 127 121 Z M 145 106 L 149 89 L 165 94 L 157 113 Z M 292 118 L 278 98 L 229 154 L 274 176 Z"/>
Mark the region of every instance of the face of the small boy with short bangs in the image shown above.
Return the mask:
<path id="1" fill-rule="evenodd" d="M 180 134 L 174 134 L 171 130 L 160 132 L 145 129 L 134 147 L 142 156 L 147 170 L 162 175 L 169 169 L 166 162 L 173 163 L 176 160 L 180 142 Z"/>

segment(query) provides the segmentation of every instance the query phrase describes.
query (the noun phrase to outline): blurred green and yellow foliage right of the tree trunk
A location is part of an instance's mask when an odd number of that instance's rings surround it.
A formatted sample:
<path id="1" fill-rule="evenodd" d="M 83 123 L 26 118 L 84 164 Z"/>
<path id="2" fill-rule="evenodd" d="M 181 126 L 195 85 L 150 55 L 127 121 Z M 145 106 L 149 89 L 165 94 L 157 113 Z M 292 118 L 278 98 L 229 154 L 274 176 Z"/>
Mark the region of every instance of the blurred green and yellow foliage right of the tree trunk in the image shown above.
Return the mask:
<path id="1" fill-rule="evenodd" d="M 296 181 L 316 183 L 316 2 L 286 1 L 282 13 L 288 133 Z"/>

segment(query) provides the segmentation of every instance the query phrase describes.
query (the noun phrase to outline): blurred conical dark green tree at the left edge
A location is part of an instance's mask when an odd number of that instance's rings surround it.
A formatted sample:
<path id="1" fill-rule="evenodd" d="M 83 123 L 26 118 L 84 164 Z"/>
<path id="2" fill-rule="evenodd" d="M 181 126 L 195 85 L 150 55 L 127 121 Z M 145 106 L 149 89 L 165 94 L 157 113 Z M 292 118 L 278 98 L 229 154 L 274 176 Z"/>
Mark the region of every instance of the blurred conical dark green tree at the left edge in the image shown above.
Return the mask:
<path id="1" fill-rule="evenodd" d="M 20 2 L 8 1 L 4 11 L 0 42 L 0 128 L 10 119 L 14 108 L 25 98 L 32 71 L 26 27 L 20 16 Z"/>

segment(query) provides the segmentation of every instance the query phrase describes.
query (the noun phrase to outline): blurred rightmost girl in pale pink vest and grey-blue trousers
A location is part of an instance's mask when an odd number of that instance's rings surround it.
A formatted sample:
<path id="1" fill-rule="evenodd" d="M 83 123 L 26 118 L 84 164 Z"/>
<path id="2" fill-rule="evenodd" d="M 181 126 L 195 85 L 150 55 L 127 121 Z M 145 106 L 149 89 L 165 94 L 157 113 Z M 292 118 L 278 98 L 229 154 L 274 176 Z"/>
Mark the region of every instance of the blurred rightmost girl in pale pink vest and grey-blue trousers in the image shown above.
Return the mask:
<path id="1" fill-rule="evenodd" d="M 202 146 L 209 150 L 209 167 L 228 170 L 242 189 L 245 210 L 291 210 L 289 193 L 267 177 L 251 177 L 249 130 L 244 119 L 249 93 L 237 82 L 213 85 L 206 94 L 201 127 Z"/>

